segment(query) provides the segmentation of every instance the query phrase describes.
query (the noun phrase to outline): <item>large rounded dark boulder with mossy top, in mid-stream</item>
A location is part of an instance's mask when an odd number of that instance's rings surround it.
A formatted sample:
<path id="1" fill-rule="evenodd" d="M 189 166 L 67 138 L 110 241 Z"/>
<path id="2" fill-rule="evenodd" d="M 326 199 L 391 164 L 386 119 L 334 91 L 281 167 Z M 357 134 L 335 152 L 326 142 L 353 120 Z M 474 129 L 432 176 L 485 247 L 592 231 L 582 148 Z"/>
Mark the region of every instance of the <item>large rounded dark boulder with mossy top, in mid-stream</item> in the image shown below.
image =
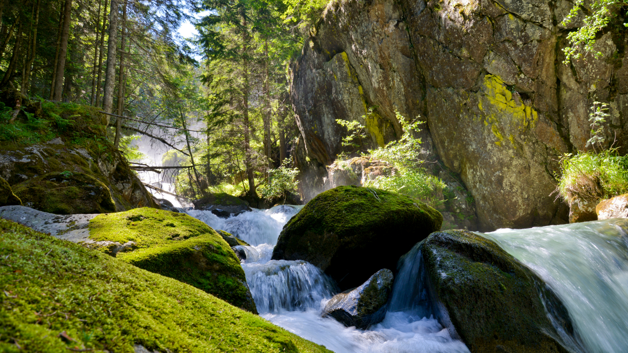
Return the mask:
<path id="1" fill-rule="evenodd" d="M 320 193 L 286 224 L 273 259 L 305 260 L 355 288 L 379 269 L 396 269 L 443 216 L 414 198 L 374 188 L 342 186 Z"/>

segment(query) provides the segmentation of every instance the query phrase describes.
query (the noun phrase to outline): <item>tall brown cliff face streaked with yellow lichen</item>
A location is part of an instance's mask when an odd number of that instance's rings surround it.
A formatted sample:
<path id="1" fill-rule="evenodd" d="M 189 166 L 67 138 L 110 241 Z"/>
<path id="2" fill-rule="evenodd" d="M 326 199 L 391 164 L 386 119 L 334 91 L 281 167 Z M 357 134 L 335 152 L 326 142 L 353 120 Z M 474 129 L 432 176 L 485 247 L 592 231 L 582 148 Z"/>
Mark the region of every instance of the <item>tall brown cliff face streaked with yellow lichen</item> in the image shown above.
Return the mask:
<path id="1" fill-rule="evenodd" d="M 307 199 L 342 151 L 335 119 L 359 120 L 372 146 L 400 136 L 394 111 L 427 121 L 426 159 L 460 175 L 482 230 L 567 222 L 550 195 L 563 153 L 587 149 L 589 107 L 608 102 L 607 143 L 628 147 L 628 58 L 617 26 L 604 58 L 562 63 L 569 1 L 332 2 L 291 67 Z M 577 26 L 575 21 L 573 26 Z M 376 114 L 361 118 L 370 106 Z"/>

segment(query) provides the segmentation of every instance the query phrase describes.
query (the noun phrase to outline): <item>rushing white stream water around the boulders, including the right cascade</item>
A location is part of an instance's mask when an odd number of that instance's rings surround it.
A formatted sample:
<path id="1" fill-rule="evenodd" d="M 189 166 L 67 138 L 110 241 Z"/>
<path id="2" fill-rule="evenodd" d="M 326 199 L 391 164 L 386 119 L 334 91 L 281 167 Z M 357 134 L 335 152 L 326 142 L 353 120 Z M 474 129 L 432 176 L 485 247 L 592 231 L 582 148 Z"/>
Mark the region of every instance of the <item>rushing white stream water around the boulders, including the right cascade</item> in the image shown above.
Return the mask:
<path id="1" fill-rule="evenodd" d="M 386 318 L 368 330 L 320 317 L 338 288 L 306 261 L 271 260 L 279 232 L 301 206 L 276 206 L 229 219 L 187 210 L 251 246 L 242 268 L 261 317 L 336 353 L 468 353 L 425 305 L 420 253 L 399 261 Z M 628 352 L 628 220 L 500 229 L 481 234 L 533 269 L 568 308 L 589 353 Z"/>

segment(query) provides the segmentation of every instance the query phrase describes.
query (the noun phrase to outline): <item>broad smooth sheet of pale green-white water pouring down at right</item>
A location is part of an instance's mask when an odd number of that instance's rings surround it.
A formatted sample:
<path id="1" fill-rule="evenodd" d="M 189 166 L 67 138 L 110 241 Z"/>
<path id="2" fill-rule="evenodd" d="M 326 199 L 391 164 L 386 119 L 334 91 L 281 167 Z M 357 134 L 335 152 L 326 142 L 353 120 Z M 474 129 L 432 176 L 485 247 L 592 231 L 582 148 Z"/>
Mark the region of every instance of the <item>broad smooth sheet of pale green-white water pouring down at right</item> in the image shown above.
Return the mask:
<path id="1" fill-rule="evenodd" d="M 551 286 L 588 352 L 628 352 L 628 219 L 479 234 Z"/>

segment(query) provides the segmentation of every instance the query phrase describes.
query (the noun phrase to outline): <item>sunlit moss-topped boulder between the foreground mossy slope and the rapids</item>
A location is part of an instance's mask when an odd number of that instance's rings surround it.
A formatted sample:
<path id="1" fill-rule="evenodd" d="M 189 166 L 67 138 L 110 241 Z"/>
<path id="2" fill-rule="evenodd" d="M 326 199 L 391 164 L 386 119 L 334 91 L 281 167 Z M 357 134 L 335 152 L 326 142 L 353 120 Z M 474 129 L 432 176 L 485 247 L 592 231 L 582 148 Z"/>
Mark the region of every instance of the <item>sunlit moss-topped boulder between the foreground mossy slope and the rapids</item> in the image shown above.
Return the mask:
<path id="1" fill-rule="evenodd" d="M 97 215 L 89 233 L 103 253 L 124 244 L 117 259 L 257 313 L 240 260 L 222 236 L 198 219 L 143 207 Z"/>

